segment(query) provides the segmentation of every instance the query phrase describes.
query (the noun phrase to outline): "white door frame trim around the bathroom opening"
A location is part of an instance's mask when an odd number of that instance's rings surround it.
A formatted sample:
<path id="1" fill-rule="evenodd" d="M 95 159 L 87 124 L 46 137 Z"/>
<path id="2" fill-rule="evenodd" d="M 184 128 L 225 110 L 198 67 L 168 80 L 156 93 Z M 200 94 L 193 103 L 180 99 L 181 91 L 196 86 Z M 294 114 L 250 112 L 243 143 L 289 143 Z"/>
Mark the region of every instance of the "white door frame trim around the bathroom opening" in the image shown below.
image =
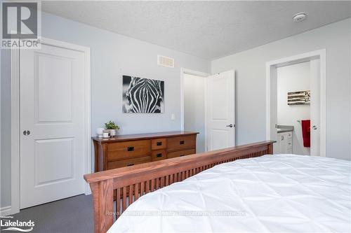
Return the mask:
<path id="1" fill-rule="evenodd" d="M 271 139 L 271 79 L 272 76 L 277 75 L 277 68 L 282 66 L 288 66 L 291 64 L 298 64 L 301 62 L 310 62 L 313 59 L 319 59 L 319 78 L 320 78 L 320 125 L 319 125 L 319 136 L 320 136 L 320 153 L 322 157 L 326 157 L 326 49 L 315 50 L 312 52 L 305 52 L 300 55 L 294 55 L 291 57 L 284 57 L 276 59 L 270 62 L 266 62 L 266 139 Z"/>

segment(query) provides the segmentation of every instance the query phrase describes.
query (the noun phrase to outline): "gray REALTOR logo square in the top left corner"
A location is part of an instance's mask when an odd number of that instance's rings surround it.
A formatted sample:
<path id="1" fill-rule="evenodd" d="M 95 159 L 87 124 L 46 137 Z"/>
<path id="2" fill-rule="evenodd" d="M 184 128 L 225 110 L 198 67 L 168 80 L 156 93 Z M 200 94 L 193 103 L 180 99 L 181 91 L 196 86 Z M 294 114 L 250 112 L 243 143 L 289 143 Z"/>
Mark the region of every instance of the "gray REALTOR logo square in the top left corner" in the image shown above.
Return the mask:
<path id="1" fill-rule="evenodd" d="M 39 48 L 39 1 L 1 3 L 1 48 Z"/>

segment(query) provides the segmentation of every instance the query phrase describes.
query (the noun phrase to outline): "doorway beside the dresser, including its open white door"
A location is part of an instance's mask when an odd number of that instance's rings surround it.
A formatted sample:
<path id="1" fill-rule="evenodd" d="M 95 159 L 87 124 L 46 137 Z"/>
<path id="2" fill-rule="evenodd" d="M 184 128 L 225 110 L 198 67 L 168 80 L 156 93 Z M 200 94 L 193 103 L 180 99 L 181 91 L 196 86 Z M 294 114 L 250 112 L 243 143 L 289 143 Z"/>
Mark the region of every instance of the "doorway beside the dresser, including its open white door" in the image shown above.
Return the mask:
<path id="1" fill-rule="evenodd" d="M 182 70 L 181 129 L 199 132 L 197 153 L 235 146 L 234 71 Z"/>

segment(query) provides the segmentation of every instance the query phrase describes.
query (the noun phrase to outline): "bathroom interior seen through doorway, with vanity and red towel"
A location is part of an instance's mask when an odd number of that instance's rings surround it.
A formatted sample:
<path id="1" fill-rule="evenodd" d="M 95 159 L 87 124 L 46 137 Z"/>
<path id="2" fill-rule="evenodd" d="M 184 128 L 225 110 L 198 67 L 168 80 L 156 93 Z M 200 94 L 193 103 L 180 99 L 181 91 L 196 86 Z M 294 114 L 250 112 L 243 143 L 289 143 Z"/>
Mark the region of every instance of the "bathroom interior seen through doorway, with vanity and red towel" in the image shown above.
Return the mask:
<path id="1" fill-rule="evenodd" d="M 310 62 L 277 68 L 277 153 L 311 153 L 310 78 Z"/>

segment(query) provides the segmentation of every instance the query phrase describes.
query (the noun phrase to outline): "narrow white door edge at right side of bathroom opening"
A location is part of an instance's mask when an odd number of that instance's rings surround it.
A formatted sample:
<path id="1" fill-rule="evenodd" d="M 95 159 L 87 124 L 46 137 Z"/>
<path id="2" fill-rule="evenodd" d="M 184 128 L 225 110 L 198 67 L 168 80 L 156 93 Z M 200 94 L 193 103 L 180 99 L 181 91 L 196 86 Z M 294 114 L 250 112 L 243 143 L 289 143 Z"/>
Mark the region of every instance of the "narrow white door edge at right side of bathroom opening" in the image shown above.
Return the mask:
<path id="1" fill-rule="evenodd" d="M 310 88 L 311 88 L 311 155 L 321 156 L 320 148 L 320 117 L 321 117 L 321 101 L 320 101 L 320 59 L 310 61 Z"/>

